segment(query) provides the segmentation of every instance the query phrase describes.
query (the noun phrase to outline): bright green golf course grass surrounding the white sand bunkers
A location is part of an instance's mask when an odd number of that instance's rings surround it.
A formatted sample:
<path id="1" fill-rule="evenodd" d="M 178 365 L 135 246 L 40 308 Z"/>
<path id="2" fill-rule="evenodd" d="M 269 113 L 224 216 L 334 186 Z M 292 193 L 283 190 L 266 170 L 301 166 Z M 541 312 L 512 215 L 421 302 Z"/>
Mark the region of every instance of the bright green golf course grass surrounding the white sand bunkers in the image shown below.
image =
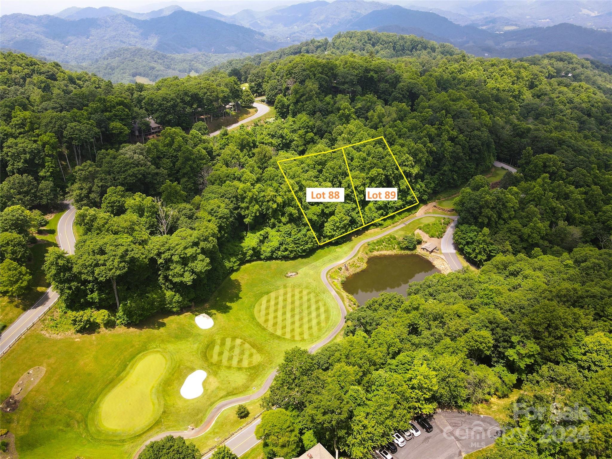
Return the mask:
<path id="1" fill-rule="evenodd" d="M 88 459 L 131 458 L 152 435 L 200 425 L 218 401 L 252 394 L 261 387 L 286 349 L 308 348 L 334 328 L 340 312 L 320 280 L 321 270 L 348 255 L 360 240 L 381 231 L 374 228 L 300 259 L 246 264 L 226 278 L 207 305 L 182 314 L 158 315 L 138 327 L 58 337 L 42 334 L 41 325 L 35 326 L 2 357 L 0 397 L 7 397 L 29 368 L 40 365 L 47 373 L 16 412 L 1 413 L 0 424 L 15 434 L 21 459 L 77 454 Z M 287 272 L 299 275 L 286 278 Z M 277 298 L 285 303 L 283 311 L 276 306 Z M 214 319 L 211 329 L 196 326 L 195 316 L 202 312 Z M 159 390 L 159 408 L 153 411 L 159 410 L 160 415 L 146 431 L 110 440 L 116 433 L 113 426 L 124 423 L 120 430 L 129 430 L 129 424 L 141 416 L 138 410 L 147 413 L 147 420 L 139 422 L 149 422 L 155 394 L 148 401 L 136 403 L 134 398 L 127 404 L 120 395 L 134 393 L 130 371 L 140 367 L 141 354 L 154 349 L 168 356 L 170 364 L 163 376 L 154 382 L 149 379 L 141 389 L 151 394 Z M 204 392 L 187 400 L 179 391 L 195 370 L 208 374 Z M 116 390 L 119 395 L 113 394 Z M 106 418 L 100 415 L 100 406 L 109 400 L 115 400 L 111 405 L 117 412 Z M 235 409 L 225 414 L 235 416 Z M 99 425 L 96 419 L 110 420 Z M 227 425 L 218 422 L 216 428 L 227 430 Z M 196 441 L 202 445 L 214 440 L 206 434 L 200 438 Z"/>

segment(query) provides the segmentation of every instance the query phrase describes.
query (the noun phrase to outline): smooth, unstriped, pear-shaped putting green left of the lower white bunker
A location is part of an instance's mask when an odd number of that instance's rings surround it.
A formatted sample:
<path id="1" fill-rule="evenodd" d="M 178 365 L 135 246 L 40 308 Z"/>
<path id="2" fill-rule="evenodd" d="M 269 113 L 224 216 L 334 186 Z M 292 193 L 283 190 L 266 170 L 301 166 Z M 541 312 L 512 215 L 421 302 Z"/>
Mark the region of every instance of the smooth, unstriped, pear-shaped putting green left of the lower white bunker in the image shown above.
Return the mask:
<path id="1" fill-rule="evenodd" d="M 119 376 L 119 383 L 100 396 L 89 416 L 89 430 L 98 438 L 129 438 L 147 430 L 162 414 L 157 388 L 169 358 L 156 349 L 140 354 Z"/>

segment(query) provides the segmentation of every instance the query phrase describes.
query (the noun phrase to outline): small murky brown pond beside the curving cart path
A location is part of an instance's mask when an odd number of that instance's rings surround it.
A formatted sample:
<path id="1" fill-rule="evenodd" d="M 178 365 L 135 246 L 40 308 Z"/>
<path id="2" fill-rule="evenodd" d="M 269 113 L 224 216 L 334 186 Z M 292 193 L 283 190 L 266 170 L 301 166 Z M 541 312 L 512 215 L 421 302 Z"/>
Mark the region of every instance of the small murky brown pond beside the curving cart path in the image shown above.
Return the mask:
<path id="1" fill-rule="evenodd" d="M 361 305 L 383 292 L 398 292 L 406 296 L 409 283 L 419 282 L 436 272 L 440 271 L 419 255 L 371 256 L 368 266 L 347 277 L 342 287 Z"/>

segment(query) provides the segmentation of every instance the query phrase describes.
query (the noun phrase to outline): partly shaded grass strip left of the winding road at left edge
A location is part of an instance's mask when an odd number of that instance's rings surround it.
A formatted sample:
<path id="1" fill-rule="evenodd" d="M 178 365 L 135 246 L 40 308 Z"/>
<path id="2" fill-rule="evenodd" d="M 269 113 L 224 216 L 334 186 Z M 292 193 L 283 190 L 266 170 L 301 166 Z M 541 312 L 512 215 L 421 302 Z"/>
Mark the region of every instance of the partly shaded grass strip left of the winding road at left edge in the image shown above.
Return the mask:
<path id="1" fill-rule="evenodd" d="M 49 288 L 45 274 L 42 272 L 42 265 L 45 262 L 45 255 L 50 247 L 56 247 L 55 235 L 58 231 L 59 218 L 64 212 L 55 214 L 47 226 L 40 228 L 36 234 L 37 243 L 30 247 L 32 259 L 26 263 L 26 267 L 32 273 L 28 292 L 19 299 L 9 298 L 0 295 L 0 323 L 5 326 L 12 324 L 24 311 L 32 307 L 40 296 Z M 4 327 L 0 327 L 4 328 Z"/>

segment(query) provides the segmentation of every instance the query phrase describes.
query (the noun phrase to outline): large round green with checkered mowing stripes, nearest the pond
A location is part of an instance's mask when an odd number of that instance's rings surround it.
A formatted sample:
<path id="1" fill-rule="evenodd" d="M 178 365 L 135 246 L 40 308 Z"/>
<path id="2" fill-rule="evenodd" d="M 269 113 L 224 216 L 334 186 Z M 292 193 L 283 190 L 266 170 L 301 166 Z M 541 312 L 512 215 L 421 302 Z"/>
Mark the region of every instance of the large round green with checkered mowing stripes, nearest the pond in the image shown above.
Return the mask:
<path id="1" fill-rule="evenodd" d="M 255 318 L 260 324 L 276 335 L 296 341 L 318 335 L 328 314 L 321 297 L 303 288 L 283 288 L 255 304 Z"/>

